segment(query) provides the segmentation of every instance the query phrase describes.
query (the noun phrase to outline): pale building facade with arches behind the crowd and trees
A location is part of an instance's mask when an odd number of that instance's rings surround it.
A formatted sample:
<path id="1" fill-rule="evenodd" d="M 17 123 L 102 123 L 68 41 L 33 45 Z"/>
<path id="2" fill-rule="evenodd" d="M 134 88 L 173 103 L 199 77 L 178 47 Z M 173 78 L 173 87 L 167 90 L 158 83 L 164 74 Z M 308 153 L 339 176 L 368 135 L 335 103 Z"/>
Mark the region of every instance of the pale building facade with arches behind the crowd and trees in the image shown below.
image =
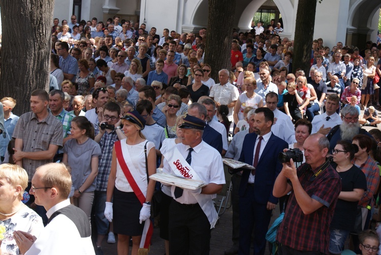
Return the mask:
<path id="1" fill-rule="evenodd" d="M 311 0 L 314 2 L 315 0 Z M 80 3 L 80 5 L 78 5 Z M 263 5 L 275 4 L 283 22 L 283 37 L 294 38 L 298 0 L 237 0 L 234 27 L 250 30 L 253 15 Z M 314 39 L 323 38 L 332 47 L 341 41 L 345 45 L 364 46 L 377 38 L 381 0 L 323 0 L 317 4 Z M 66 0 L 55 1 L 54 17 L 70 22 L 71 14 L 80 19 L 97 17 L 104 22 L 118 14 L 121 19 L 142 23 L 147 30 L 154 26 L 157 34 L 163 29 L 178 33 L 196 32 L 207 27 L 208 0 Z"/>

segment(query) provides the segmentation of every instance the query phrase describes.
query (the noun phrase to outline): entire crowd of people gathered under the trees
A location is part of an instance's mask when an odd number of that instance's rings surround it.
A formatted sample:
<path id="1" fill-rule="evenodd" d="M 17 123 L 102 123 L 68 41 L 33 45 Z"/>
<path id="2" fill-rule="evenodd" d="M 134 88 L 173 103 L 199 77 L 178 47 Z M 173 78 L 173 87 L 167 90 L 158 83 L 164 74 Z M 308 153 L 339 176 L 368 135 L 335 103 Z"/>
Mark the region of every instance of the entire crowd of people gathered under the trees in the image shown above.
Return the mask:
<path id="1" fill-rule="evenodd" d="M 15 99 L 0 100 L 3 254 L 103 254 L 105 238 L 118 254 L 131 244 L 132 254 L 148 252 L 157 216 L 167 255 L 209 254 L 223 157 L 254 167 L 229 170 L 225 254 L 264 254 L 278 202 L 273 245 L 283 254 L 340 254 L 349 236 L 355 252 L 381 253 L 381 228 L 370 224 L 381 46 L 331 50 L 319 38 L 309 73 L 293 73 L 294 41 L 281 23 L 258 22 L 233 32 L 231 68 L 217 82 L 204 62 L 205 28 L 160 36 L 119 16 L 53 23 L 49 92 L 33 91 L 20 117 Z M 155 182 L 156 168 L 203 185 Z"/>

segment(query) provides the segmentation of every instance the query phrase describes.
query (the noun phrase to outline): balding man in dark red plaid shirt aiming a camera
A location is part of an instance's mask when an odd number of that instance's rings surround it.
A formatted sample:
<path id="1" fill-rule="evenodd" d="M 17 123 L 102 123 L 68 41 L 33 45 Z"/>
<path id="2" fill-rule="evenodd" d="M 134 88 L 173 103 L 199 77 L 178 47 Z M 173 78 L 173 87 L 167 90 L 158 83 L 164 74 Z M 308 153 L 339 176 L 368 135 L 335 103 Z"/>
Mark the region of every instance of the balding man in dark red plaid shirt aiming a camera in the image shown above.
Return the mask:
<path id="1" fill-rule="evenodd" d="M 293 191 L 276 240 L 282 244 L 283 255 L 328 254 L 329 226 L 341 191 L 341 180 L 326 159 L 329 141 L 325 135 L 310 135 L 303 148 L 306 163 L 297 170 L 294 160 L 290 159 L 283 163 L 275 180 L 275 197 Z"/>

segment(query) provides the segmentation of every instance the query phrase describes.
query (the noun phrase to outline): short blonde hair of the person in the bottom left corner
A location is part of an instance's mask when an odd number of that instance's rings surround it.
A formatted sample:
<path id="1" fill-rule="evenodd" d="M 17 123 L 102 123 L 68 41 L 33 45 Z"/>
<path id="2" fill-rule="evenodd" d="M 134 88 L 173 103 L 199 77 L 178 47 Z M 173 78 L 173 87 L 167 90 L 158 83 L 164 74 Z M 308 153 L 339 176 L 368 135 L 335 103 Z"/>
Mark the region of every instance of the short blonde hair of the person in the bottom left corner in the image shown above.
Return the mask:
<path id="1" fill-rule="evenodd" d="M 24 190 L 28 186 L 28 174 L 25 169 L 19 165 L 2 164 L 0 165 L 0 178 L 6 179 L 12 186 L 20 185 L 22 191 L 18 195 L 21 201 Z"/>

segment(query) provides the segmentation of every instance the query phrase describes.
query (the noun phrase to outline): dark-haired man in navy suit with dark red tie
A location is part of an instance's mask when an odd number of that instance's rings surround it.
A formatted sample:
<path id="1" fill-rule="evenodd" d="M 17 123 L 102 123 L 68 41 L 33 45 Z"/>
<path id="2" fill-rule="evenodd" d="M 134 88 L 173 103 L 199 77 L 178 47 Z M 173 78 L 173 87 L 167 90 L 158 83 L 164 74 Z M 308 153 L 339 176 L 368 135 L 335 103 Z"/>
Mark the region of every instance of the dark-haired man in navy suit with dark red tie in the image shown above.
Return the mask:
<path id="1" fill-rule="evenodd" d="M 271 132 L 274 114 L 269 108 L 256 109 L 254 118 L 251 125 L 255 132 L 245 136 L 239 158 L 256 167 L 255 171 L 244 169 L 239 187 L 239 254 L 249 254 L 254 226 L 254 254 L 265 253 L 271 211 L 278 203 L 272 194 L 275 179 L 282 169 L 278 154 L 288 148 L 284 140 Z"/>

